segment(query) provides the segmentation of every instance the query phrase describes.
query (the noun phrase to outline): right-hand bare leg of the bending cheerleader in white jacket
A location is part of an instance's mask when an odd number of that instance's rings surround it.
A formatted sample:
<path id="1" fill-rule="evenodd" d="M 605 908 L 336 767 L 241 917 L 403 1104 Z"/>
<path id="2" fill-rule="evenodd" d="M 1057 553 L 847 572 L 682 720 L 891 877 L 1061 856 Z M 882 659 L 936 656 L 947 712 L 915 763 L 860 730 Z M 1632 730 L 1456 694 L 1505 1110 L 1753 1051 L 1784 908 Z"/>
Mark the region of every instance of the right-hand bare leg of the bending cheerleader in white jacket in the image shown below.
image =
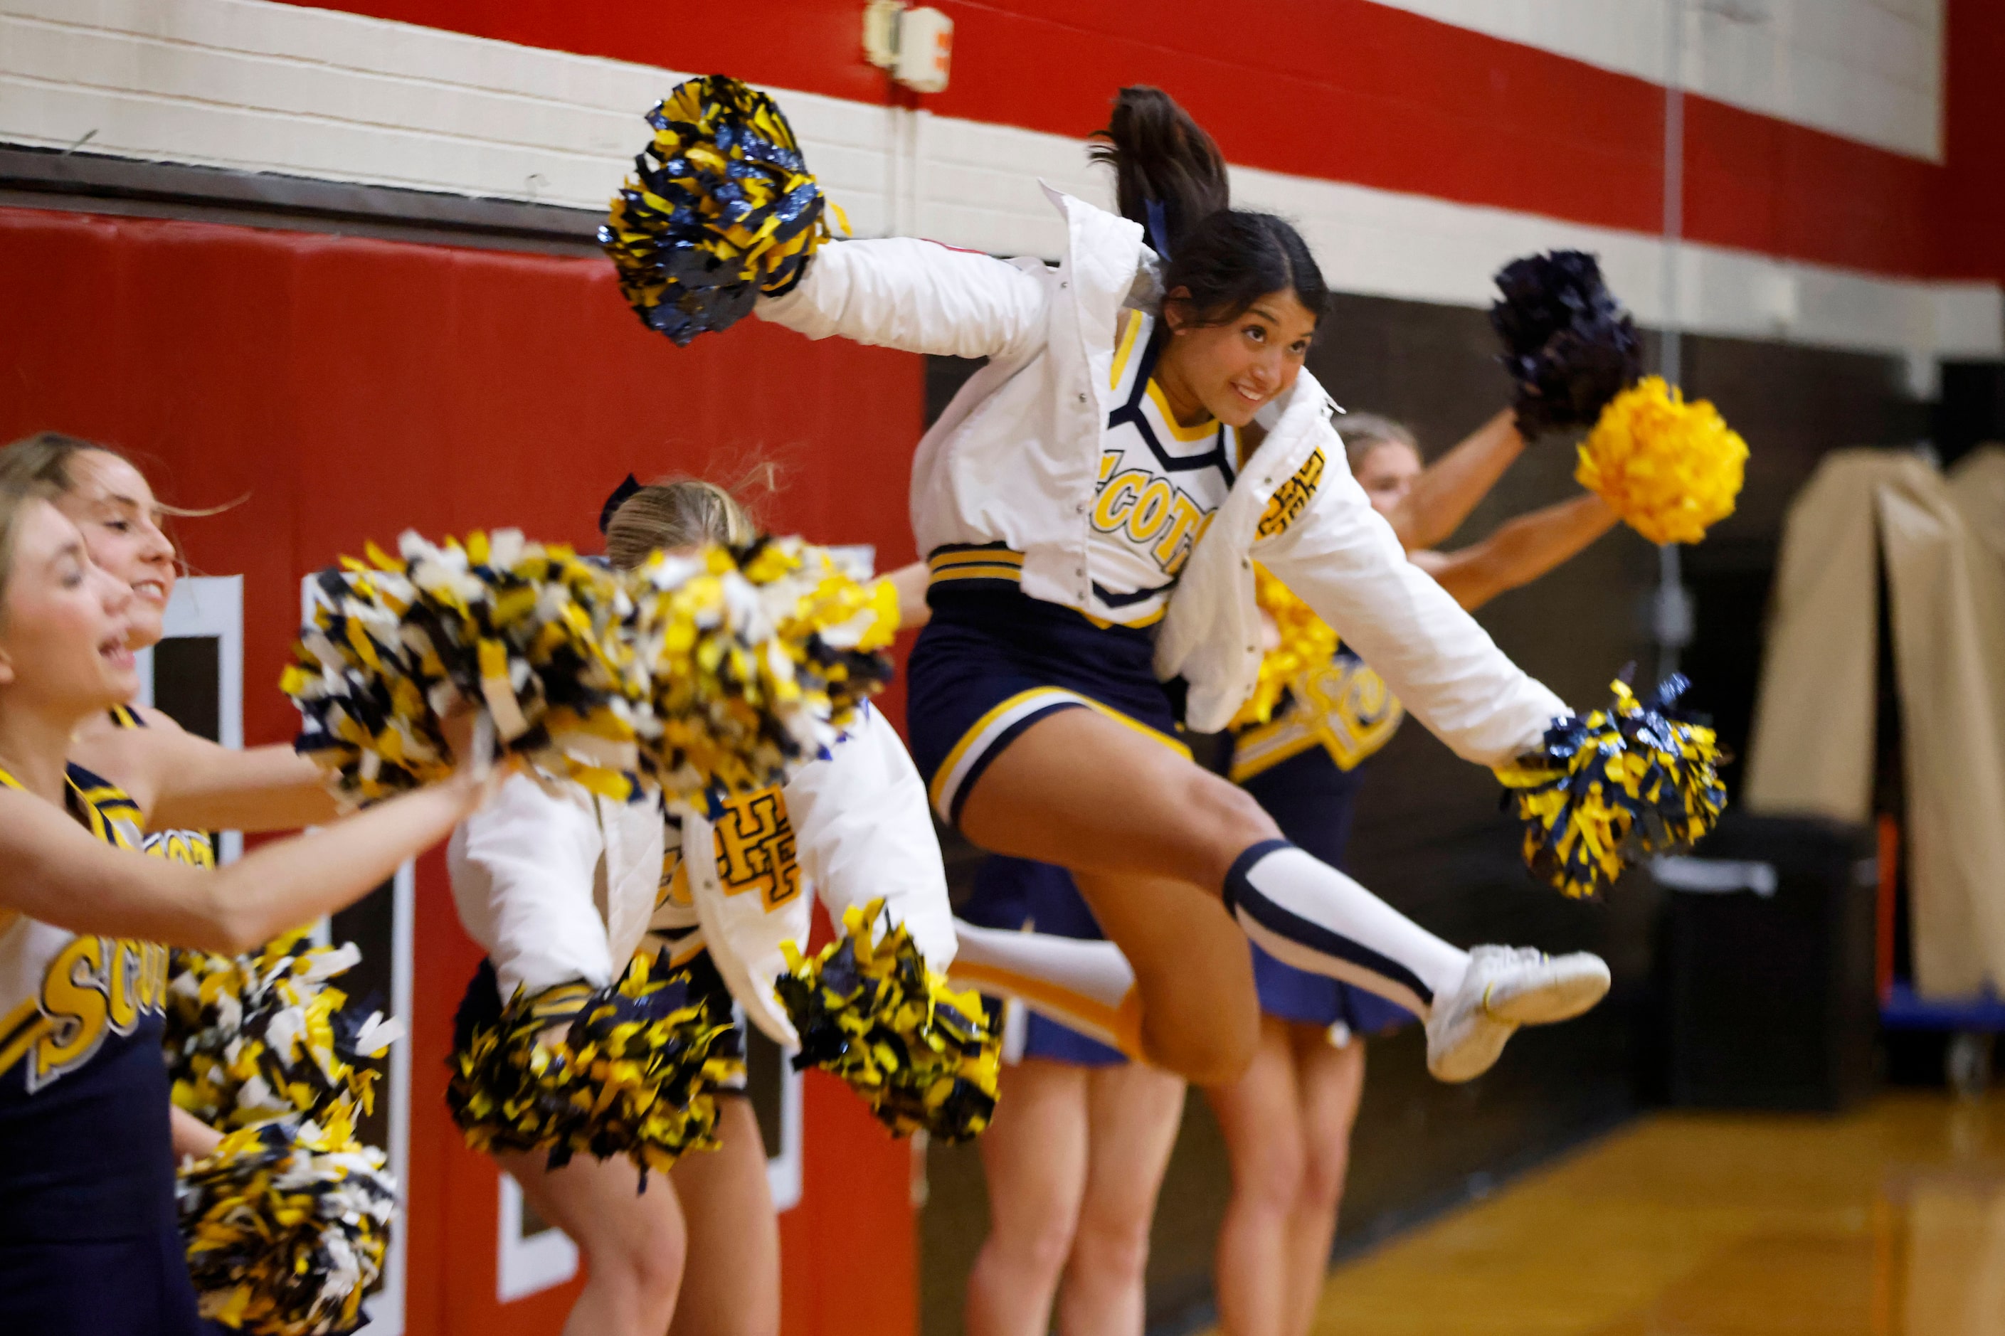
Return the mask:
<path id="1" fill-rule="evenodd" d="M 674 1336 L 778 1336 L 780 1218 L 766 1188 L 766 1145 L 752 1101 L 718 1099 L 714 1151 L 676 1161 L 670 1178 L 690 1222 L 690 1264 Z"/>

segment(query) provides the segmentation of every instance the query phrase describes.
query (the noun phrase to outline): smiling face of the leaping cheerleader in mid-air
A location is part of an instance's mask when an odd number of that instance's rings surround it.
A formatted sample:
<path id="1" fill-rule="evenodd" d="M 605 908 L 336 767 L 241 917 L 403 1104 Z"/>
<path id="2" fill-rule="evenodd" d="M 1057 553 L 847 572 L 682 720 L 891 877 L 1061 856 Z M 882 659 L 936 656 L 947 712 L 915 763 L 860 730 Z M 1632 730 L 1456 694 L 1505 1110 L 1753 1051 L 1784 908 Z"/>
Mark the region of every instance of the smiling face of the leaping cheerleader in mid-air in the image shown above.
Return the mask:
<path id="1" fill-rule="evenodd" d="M 1255 297 L 1229 321 L 1199 325 L 1179 295 L 1183 289 L 1163 303 L 1171 339 L 1155 365 L 1171 409 L 1187 427 L 1205 415 L 1229 427 L 1247 425 L 1301 375 L 1315 315 L 1283 287 Z"/>

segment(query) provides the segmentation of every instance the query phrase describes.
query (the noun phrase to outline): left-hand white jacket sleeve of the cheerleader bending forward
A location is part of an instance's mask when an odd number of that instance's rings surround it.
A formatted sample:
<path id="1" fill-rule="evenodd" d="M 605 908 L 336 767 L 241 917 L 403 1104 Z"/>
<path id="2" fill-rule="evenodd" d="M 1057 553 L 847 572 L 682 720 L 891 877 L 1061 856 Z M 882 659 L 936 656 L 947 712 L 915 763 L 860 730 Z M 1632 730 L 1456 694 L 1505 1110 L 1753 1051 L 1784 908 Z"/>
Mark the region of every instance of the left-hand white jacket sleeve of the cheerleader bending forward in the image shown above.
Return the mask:
<path id="1" fill-rule="evenodd" d="M 606 851 L 591 794 L 511 776 L 445 847 L 459 923 L 493 961 L 501 997 L 583 979 L 614 981 L 612 945 L 593 899 Z M 624 961 L 622 961 L 624 963 Z"/>

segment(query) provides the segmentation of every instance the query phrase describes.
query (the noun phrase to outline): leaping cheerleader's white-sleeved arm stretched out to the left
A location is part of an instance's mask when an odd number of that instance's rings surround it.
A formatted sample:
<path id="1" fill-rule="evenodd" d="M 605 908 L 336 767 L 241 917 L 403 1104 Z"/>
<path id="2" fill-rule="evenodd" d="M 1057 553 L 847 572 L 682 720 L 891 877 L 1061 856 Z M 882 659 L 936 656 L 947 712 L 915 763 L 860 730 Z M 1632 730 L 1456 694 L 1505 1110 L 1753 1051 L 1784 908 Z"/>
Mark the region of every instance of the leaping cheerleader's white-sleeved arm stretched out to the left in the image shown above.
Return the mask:
<path id="1" fill-rule="evenodd" d="M 1045 337 L 1053 283 L 1043 263 L 1029 265 L 1037 273 L 910 237 L 830 243 L 800 285 L 760 301 L 758 315 L 810 339 L 842 335 L 906 353 L 1009 357 Z"/>

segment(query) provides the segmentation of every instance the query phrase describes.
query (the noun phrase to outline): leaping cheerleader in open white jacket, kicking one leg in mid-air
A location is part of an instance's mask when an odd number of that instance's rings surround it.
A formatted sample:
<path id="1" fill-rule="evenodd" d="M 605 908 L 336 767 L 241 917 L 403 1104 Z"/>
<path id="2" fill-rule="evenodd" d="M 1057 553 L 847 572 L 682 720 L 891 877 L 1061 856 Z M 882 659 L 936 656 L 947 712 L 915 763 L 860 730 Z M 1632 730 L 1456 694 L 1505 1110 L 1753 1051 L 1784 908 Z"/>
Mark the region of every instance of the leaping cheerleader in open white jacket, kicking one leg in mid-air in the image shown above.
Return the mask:
<path id="1" fill-rule="evenodd" d="M 1231 209 L 1215 144 L 1153 88 L 1123 90 L 1103 138 L 1121 215 L 1051 193 L 1057 269 L 852 241 L 758 303 L 808 337 L 988 359 L 912 473 L 932 620 L 908 720 L 934 810 L 1073 873 L 1133 963 L 1159 1067 L 1221 1083 L 1251 1059 L 1237 921 L 1426 1017 L 1430 1069 L 1470 1079 L 1520 1023 L 1592 1007 L 1608 967 L 1426 933 L 1197 766 L 1177 696 L 1217 730 L 1251 692 L 1257 558 L 1470 760 L 1536 750 L 1568 710 L 1406 560 L 1343 467 L 1303 371 L 1329 293 L 1295 229 Z"/>

